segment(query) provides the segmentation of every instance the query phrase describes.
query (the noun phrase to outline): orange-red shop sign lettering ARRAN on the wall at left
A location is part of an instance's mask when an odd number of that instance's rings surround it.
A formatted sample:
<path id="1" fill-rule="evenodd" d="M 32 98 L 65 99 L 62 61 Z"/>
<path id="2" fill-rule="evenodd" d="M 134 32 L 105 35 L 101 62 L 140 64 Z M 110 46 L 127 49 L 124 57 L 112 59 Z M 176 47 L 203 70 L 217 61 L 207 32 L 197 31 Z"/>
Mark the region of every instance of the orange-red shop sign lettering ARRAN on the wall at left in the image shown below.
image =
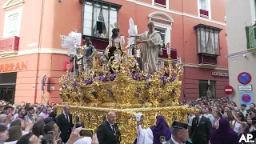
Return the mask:
<path id="1" fill-rule="evenodd" d="M 11 62 L 0 64 L 0 72 L 11 72 L 11 71 L 19 71 L 19 70 L 27 70 L 27 62 Z"/>

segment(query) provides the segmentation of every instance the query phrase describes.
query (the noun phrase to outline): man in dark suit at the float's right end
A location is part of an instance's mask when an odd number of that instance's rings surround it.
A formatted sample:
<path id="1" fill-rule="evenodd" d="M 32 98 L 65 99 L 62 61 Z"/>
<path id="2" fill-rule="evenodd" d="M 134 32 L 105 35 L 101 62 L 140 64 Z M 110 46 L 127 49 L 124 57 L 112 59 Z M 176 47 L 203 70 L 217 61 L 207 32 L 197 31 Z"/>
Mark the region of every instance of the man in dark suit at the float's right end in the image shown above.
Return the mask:
<path id="1" fill-rule="evenodd" d="M 209 118 L 202 115 L 202 108 L 195 112 L 195 117 L 192 120 L 192 126 L 190 129 L 190 136 L 193 144 L 208 144 L 211 135 L 211 122 Z"/>

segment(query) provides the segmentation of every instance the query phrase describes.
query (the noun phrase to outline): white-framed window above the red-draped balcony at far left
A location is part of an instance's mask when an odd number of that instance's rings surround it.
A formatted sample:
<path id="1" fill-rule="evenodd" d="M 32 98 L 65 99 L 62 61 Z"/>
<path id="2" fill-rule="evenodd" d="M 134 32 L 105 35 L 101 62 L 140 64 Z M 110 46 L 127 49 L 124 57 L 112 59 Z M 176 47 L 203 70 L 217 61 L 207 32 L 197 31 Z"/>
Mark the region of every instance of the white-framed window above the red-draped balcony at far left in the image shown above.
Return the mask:
<path id="1" fill-rule="evenodd" d="M 14 14 L 9 16 L 9 37 L 17 36 L 18 34 L 18 15 Z"/>

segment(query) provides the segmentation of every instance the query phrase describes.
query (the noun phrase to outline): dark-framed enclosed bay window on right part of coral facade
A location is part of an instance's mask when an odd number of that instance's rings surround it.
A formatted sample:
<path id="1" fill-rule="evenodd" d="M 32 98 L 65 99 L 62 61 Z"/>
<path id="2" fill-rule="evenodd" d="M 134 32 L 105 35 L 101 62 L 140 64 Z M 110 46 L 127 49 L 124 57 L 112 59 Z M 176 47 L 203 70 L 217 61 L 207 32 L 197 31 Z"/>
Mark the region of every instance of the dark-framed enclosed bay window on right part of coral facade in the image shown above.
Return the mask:
<path id="1" fill-rule="evenodd" d="M 220 55 L 219 33 L 222 29 L 199 24 L 197 34 L 198 53 Z"/>

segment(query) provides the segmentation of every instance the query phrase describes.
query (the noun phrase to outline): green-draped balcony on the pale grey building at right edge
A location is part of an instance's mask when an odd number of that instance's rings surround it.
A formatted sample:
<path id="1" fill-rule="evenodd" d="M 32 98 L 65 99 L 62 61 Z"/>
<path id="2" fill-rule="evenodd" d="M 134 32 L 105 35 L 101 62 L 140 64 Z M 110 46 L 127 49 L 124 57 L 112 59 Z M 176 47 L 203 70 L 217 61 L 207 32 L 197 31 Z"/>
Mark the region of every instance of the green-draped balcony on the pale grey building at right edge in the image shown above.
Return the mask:
<path id="1" fill-rule="evenodd" d="M 246 26 L 247 50 L 256 54 L 256 23 L 254 26 Z"/>

